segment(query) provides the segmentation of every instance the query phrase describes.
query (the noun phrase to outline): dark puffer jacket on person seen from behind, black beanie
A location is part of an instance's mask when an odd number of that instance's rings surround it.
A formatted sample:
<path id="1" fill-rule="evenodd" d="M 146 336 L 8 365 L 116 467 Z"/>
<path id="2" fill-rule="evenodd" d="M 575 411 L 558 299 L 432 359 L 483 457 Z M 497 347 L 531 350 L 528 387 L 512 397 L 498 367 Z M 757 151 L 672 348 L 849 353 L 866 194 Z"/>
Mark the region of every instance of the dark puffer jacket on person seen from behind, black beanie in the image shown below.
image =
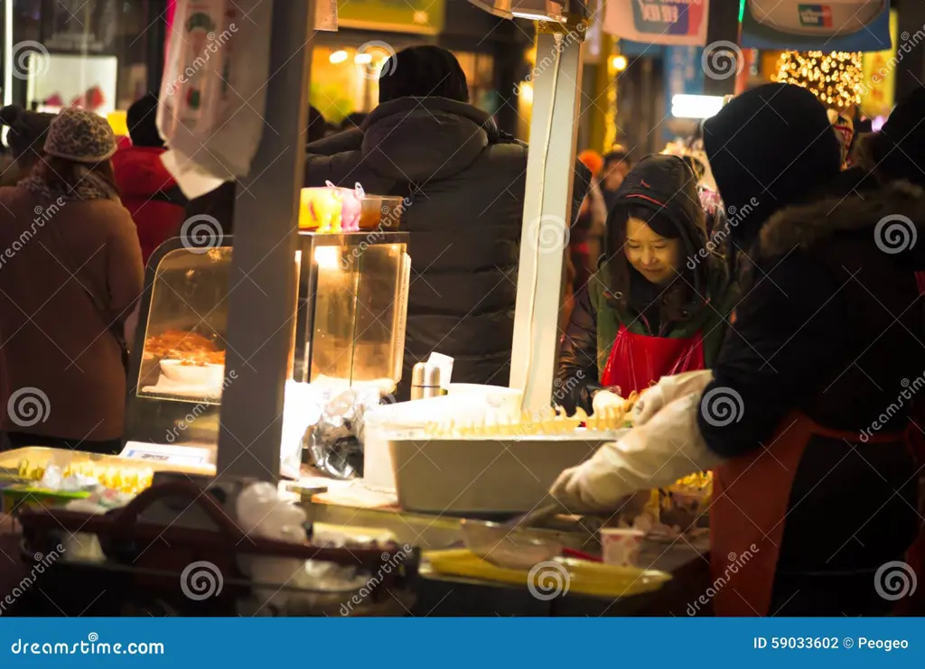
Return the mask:
<path id="1" fill-rule="evenodd" d="M 485 112 L 438 97 L 380 104 L 362 129 L 308 146 L 306 186 L 360 182 L 411 201 L 401 220 L 412 284 L 400 399 L 414 363 L 435 350 L 454 359 L 454 382 L 507 385 L 526 156 Z M 585 194 L 574 190 L 573 220 Z"/>

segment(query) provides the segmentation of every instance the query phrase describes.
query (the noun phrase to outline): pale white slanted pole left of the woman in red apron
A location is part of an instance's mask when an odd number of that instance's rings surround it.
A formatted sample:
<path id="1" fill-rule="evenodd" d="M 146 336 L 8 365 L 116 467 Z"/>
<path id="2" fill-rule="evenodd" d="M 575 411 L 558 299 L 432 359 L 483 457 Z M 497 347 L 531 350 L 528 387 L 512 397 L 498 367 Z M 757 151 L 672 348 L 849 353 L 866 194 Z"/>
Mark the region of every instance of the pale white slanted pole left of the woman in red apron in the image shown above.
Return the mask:
<path id="1" fill-rule="evenodd" d="M 549 407 L 559 353 L 582 48 L 580 40 L 543 31 L 536 39 L 536 63 L 551 56 L 555 64 L 535 73 L 514 312 L 511 387 L 523 389 L 529 411 Z"/>

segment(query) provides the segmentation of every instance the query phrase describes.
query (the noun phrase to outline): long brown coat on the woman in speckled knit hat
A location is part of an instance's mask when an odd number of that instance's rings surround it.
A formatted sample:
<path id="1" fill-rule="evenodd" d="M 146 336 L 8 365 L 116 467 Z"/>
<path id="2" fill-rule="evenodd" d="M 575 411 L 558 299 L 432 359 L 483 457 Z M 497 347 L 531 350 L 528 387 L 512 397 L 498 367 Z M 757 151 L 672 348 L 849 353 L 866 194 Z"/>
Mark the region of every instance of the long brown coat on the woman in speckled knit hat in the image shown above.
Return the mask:
<path id="1" fill-rule="evenodd" d="M 0 258 L 3 430 L 68 440 L 121 437 L 126 371 L 110 327 L 125 322 L 143 279 L 129 212 L 115 201 L 50 202 L 20 187 L 2 188 L 0 249 L 6 249 Z M 29 410 L 30 398 L 44 407 L 18 416 Z"/>

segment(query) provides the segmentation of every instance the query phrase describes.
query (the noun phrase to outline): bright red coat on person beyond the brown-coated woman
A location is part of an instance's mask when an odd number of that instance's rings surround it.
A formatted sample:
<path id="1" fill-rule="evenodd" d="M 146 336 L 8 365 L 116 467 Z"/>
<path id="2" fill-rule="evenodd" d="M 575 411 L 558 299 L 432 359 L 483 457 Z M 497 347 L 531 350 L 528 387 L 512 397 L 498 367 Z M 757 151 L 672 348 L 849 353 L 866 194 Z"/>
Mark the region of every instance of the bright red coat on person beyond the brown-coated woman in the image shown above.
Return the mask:
<path id="1" fill-rule="evenodd" d="M 129 146 L 113 156 L 116 185 L 122 203 L 138 227 L 145 263 L 154 249 L 178 237 L 186 198 L 161 163 L 164 149 Z"/>

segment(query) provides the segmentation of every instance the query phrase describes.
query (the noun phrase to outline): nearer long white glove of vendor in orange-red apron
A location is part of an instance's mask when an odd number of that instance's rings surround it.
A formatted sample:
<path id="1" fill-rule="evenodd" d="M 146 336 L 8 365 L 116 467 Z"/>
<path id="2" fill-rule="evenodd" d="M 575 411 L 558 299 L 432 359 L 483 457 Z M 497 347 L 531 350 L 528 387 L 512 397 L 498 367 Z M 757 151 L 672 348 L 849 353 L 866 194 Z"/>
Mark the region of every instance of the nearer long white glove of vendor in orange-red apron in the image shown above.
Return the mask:
<path id="1" fill-rule="evenodd" d="M 549 493 L 573 511 L 612 509 L 626 495 L 716 467 L 722 460 L 697 429 L 699 410 L 699 392 L 675 399 L 645 426 L 563 471 Z"/>

